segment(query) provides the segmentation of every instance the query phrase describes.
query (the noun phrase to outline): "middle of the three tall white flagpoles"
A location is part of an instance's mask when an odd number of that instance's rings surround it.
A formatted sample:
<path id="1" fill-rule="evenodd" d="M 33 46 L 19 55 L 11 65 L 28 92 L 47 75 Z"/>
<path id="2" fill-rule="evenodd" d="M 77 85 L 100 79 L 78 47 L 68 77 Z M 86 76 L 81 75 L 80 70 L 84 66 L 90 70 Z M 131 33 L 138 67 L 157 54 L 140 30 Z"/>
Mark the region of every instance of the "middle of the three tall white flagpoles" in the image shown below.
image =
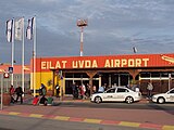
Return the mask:
<path id="1" fill-rule="evenodd" d="M 22 44 L 22 89 L 23 89 L 23 92 L 25 91 L 24 90 L 24 63 L 25 63 L 25 55 L 24 55 L 24 49 L 25 49 L 25 46 L 24 46 L 24 17 L 23 17 L 23 34 L 22 34 L 22 37 L 23 37 L 23 44 Z M 24 94 L 23 94 L 24 96 Z"/>

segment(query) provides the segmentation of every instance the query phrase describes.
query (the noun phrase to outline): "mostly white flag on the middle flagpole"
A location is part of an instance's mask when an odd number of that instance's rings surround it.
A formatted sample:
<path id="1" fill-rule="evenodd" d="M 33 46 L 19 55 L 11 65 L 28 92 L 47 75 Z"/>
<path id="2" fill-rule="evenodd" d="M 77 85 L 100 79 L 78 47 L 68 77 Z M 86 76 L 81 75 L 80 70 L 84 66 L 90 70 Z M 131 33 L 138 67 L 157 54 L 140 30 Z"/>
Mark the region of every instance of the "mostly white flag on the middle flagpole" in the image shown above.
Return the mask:
<path id="1" fill-rule="evenodd" d="M 15 39 L 22 40 L 23 38 L 24 18 L 20 18 L 15 22 Z"/>

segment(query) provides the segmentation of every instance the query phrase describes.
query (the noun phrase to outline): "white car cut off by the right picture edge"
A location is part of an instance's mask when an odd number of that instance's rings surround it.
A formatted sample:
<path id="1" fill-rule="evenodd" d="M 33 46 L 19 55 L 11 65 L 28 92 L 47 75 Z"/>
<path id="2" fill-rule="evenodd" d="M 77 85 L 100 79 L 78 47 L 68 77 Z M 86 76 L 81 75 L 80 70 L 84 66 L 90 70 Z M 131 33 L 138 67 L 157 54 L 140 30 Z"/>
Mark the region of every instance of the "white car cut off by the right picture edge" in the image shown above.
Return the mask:
<path id="1" fill-rule="evenodd" d="M 165 93 L 154 94 L 152 96 L 152 102 L 160 103 L 160 104 L 165 102 L 174 102 L 174 88 L 169 90 Z"/>

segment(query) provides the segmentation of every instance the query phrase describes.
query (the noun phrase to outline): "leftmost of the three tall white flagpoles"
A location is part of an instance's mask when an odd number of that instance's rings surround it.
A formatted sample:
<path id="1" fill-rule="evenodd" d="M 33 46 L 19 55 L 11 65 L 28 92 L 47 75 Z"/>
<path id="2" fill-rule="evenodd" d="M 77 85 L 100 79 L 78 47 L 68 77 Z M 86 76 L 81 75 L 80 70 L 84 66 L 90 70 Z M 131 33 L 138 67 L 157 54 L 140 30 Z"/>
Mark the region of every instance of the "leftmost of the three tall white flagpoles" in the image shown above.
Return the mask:
<path id="1" fill-rule="evenodd" d="M 12 20 L 13 21 L 13 25 L 12 25 L 12 67 L 14 66 L 13 64 L 14 64 L 14 18 Z M 11 78 L 11 84 L 13 86 L 13 73 L 12 73 L 12 78 Z"/>

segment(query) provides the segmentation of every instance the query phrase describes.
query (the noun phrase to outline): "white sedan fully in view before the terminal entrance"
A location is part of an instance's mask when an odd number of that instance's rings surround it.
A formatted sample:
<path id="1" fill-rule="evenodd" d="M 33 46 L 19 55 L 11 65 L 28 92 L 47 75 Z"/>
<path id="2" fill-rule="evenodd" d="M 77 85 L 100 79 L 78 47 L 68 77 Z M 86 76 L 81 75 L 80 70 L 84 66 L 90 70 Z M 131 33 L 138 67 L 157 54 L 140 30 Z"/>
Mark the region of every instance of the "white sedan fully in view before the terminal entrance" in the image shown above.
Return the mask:
<path id="1" fill-rule="evenodd" d="M 141 93 L 135 92 L 126 87 L 111 88 L 102 93 L 95 93 L 90 96 L 90 101 L 95 103 L 126 102 L 130 104 L 139 100 L 141 100 Z"/>

